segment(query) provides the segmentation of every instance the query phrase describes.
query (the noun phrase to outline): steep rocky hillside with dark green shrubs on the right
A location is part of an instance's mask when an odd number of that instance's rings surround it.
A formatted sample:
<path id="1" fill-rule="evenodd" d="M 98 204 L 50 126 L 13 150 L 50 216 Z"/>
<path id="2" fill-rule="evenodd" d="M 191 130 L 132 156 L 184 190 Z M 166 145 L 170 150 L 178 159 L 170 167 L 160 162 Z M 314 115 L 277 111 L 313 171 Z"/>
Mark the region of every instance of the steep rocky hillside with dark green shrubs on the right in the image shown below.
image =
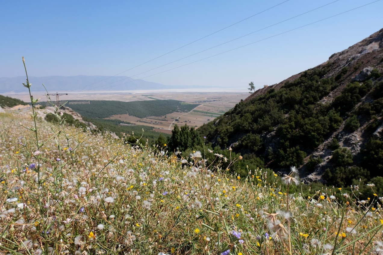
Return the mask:
<path id="1" fill-rule="evenodd" d="M 254 166 L 299 166 L 309 182 L 351 185 L 378 178 L 382 74 L 383 29 L 317 67 L 255 91 L 199 130 Z"/>

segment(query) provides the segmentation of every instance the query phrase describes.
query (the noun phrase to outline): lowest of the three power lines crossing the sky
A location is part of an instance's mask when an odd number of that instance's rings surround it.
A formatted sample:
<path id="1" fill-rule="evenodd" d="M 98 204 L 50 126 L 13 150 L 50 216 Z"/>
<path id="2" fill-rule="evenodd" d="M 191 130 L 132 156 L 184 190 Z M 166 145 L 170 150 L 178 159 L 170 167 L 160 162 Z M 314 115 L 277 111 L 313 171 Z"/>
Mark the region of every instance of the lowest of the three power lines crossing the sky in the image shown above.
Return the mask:
<path id="1" fill-rule="evenodd" d="M 165 70 L 165 71 L 161 71 L 161 72 L 159 72 L 159 73 L 155 73 L 155 74 L 152 74 L 152 75 L 148 75 L 148 76 L 145 76 L 145 77 L 143 77 L 143 78 L 141 78 L 141 79 L 145 79 L 145 78 L 147 78 L 147 77 L 151 77 L 151 76 L 154 76 L 154 75 L 159 75 L 160 73 L 165 73 L 165 72 L 167 72 L 167 71 L 172 71 L 172 70 L 174 70 L 174 69 L 177 69 L 177 68 L 180 68 L 180 67 L 185 67 L 185 66 L 187 66 L 187 65 L 190 65 L 190 64 L 193 64 L 193 63 L 196 63 L 196 62 L 200 62 L 200 61 L 202 61 L 202 60 L 206 60 L 206 59 L 208 59 L 208 58 L 216 57 L 216 56 L 218 56 L 218 55 L 221 55 L 221 54 L 224 54 L 224 53 L 227 53 L 227 52 L 231 52 L 231 51 L 233 51 L 233 50 L 241 49 L 241 48 L 243 48 L 243 47 L 246 47 L 246 46 L 255 44 L 255 43 L 257 43 L 257 42 L 262 42 L 262 41 L 265 41 L 265 40 L 267 40 L 267 39 L 270 39 L 270 38 L 273 38 L 273 37 L 276 37 L 276 36 L 280 36 L 280 35 L 282 35 L 282 34 L 286 34 L 286 33 L 288 33 L 288 32 L 295 31 L 295 30 L 297 30 L 297 29 L 304 28 L 304 27 L 306 27 L 306 26 L 310 26 L 310 25 L 312 25 L 312 24 L 315 24 L 315 23 L 324 21 L 324 20 L 326 20 L 326 19 L 334 18 L 334 17 L 339 16 L 339 15 L 342 15 L 342 14 L 344 14 L 344 13 L 348 13 L 348 12 L 350 12 L 350 11 L 354 11 L 354 10 L 357 10 L 357 9 L 362 8 L 362 7 L 364 7 L 364 6 L 371 5 L 371 4 L 373 4 L 373 3 L 380 2 L 380 1 L 381 1 L 381 0 L 376 0 L 376 1 L 373 1 L 373 2 L 370 2 L 370 3 L 367 3 L 367 4 L 364 4 L 364 5 L 360 5 L 360 6 L 358 6 L 358 7 L 349 9 L 349 10 L 347 10 L 347 11 L 343 11 L 343 12 L 341 12 L 341 13 L 337 13 L 337 14 L 335 14 L 335 15 L 329 16 L 329 17 L 327 17 L 327 18 L 319 19 L 319 20 L 317 20 L 317 21 L 314 21 L 314 22 L 305 24 L 305 25 L 303 25 L 303 26 L 299 26 L 299 27 L 296 27 L 296 28 L 287 30 L 287 31 L 285 31 L 285 32 L 281 32 L 281 33 L 279 33 L 279 34 L 275 34 L 275 35 L 273 35 L 273 36 L 269 36 L 269 37 L 266 37 L 266 38 L 264 38 L 264 39 L 260 39 L 260 40 L 255 41 L 255 42 L 250 42 L 249 44 L 245 44 L 245 45 L 242 45 L 242 46 L 239 46 L 239 47 L 230 49 L 230 50 L 226 50 L 226 51 L 224 51 L 224 52 L 221 52 L 221 53 L 218 53 L 218 54 L 214 54 L 214 55 L 211 55 L 211 56 L 206 57 L 206 58 L 201 58 L 201 59 L 199 59 L 199 60 L 196 60 L 196 61 L 193 61 L 193 62 L 184 64 L 184 65 L 180 65 L 180 66 L 178 66 L 178 67 L 174 67 L 174 68 L 171 68 L 171 69 L 168 69 L 168 70 Z M 134 81 L 134 80 L 133 80 L 133 81 Z M 130 82 L 130 81 L 129 81 L 129 82 Z M 118 84 L 118 85 L 119 85 L 119 84 Z M 116 85 L 116 86 L 118 86 L 118 85 Z"/>

